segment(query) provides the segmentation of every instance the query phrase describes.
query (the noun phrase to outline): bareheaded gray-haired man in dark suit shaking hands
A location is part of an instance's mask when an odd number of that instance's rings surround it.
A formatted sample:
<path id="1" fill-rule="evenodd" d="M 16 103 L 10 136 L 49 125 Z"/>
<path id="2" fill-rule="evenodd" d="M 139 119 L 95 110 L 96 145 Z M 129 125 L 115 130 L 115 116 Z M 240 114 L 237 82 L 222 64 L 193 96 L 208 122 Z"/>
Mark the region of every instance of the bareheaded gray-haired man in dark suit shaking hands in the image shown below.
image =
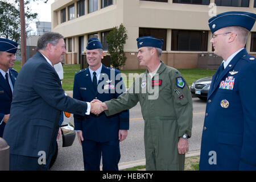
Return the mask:
<path id="1" fill-rule="evenodd" d="M 55 152 L 61 111 L 85 115 L 94 104 L 65 96 L 53 65 L 66 52 L 63 36 L 46 32 L 37 53 L 16 79 L 3 138 L 10 146 L 10 170 L 47 170 Z"/>

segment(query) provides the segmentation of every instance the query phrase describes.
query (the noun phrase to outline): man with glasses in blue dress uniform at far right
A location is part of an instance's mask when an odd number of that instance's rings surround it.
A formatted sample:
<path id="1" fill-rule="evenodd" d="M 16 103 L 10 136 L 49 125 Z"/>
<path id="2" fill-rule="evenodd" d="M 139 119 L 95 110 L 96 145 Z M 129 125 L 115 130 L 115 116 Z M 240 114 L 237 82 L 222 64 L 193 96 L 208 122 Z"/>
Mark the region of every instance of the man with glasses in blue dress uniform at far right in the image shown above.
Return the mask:
<path id="1" fill-rule="evenodd" d="M 256 60 L 245 49 L 255 19 L 240 11 L 209 19 L 210 42 L 224 61 L 208 93 L 200 170 L 256 170 Z"/>

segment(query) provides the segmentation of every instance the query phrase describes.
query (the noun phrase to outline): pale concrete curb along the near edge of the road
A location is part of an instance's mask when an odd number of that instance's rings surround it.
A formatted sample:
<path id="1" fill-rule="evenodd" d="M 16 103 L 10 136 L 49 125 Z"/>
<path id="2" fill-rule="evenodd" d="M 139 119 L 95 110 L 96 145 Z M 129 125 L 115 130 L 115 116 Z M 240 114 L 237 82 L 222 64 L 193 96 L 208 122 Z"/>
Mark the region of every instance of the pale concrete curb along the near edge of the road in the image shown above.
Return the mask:
<path id="1" fill-rule="evenodd" d="M 195 151 L 189 151 L 187 154 L 185 154 L 185 158 L 193 157 L 193 156 L 199 156 L 200 150 Z M 127 169 L 127 168 L 133 168 L 137 166 L 144 166 L 146 165 L 146 159 L 140 159 L 140 160 L 133 160 L 130 162 L 123 162 L 118 164 L 119 170 Z"/>

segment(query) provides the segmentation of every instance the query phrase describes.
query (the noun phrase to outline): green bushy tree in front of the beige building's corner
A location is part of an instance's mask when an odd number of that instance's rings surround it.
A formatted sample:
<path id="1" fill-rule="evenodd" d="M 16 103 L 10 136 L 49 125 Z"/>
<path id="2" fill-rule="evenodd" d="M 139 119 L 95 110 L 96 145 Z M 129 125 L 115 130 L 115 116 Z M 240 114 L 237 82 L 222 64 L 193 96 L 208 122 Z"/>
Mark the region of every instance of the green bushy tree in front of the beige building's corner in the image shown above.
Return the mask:
<path id="1" fill-rule="evenodd" d="M 106 37 L 107 43 L 109 44 L 108 51 L 111 57 L 110 64 L 117 69 L 122 67 L 122 65 L 125 65 L 125 61 L 127 59 L 125 52 L 123 51 L 123 46 L 128 38 L 126 33 L 127 31 L 125 26 L 120 24 L 119 28 L 114 27 L 114 30 L 110 31 Z"/>

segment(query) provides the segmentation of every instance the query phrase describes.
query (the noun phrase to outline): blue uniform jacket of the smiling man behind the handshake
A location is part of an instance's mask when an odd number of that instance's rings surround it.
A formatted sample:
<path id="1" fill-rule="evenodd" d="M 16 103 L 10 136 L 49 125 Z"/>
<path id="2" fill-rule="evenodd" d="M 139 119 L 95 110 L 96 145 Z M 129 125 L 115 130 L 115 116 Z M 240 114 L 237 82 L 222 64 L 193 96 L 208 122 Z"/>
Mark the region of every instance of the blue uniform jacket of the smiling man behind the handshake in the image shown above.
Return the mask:
<path id="1" fill-rule="evenodd" d="M 92 85 L 89 68 L 77 72 L 74 79 L 73 98 L 90 102 L 94 98 L 104 102 L 117 98 L 122 94 L 122 77 L 115 77 L 120 73 L 117 69 L 105 67 L 102 64 L 101 76 L 98 86 L 101 85 L 102 92 L 95 92 Z M 121 74 L 119 74 L 121 75 Z M 121 79 L 120 79 L 121 78 Z M 121 92 L 120 92 L 121 91 Z M 119 92 L 119 93 L 118 93 Z M 129 129 L 129 110 L 107 117 L 104 112 L 99 115 L 74 114 L 75 130 L 82 130 L 83 137 L 95 142 L 108 142 L 118 139 L 119 130 Z"/>

